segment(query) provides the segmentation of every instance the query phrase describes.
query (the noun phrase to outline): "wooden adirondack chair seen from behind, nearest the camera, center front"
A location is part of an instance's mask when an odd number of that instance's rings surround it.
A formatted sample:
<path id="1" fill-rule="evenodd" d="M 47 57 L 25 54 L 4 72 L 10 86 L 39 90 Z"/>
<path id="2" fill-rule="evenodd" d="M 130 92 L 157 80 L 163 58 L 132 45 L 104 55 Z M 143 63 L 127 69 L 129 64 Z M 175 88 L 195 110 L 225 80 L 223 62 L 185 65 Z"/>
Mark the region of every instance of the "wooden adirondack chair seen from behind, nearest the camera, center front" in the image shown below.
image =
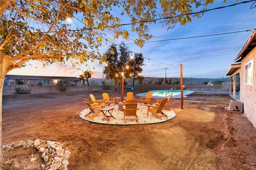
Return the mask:
<path id="1" fill-rule="evenodd" d="M 138 106 L 138 102 L 136 100 L 131 99 L 131 100 L 125 101 L 124 121 L 137 121 L 138 123 L 137 106 Z M 135 118 L 126 118 L 126 117 L 135 117 Z"/>

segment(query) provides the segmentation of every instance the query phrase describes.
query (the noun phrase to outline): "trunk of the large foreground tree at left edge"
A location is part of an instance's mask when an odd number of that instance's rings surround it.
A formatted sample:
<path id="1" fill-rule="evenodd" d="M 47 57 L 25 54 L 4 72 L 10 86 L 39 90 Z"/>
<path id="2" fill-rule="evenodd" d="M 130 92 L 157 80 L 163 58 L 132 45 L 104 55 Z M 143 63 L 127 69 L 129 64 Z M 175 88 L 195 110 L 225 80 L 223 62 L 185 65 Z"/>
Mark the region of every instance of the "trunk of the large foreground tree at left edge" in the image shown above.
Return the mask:
<path id="1" fill-rule="evenodd" d="M 3 154 L 3 134 L 2 134 L 2 99 L 3 99 L 3 86 L 4 86 L 4 78 L 7 72 L 11 69 L 13 64 L 9 61 L 8 57 L 3 56 L 0 53 L 0 164 L 4 162 L 4 154 Z M 0 166 L 0 170 L 2 167 Z"/>

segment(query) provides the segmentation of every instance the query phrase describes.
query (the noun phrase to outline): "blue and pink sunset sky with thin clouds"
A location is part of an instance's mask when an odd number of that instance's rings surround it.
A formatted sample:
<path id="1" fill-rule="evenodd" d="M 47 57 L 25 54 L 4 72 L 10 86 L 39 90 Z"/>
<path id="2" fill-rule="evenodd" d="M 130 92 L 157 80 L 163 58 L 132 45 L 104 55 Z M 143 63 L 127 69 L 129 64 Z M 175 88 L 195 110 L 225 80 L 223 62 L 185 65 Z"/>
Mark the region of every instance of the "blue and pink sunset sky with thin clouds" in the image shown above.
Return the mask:
<path id="1" fill-rule="evenodd" d="M 214 1 L 212 5 L 207 8 L 213 8 L 223 5 L 237 3 L 235 1 L 228 1 L 223 4 L 223 1 Z M 166 30 L 162 24 L 149 24 L 149 33 L 154 35 L 150 40 L 161 40 L 170 38 L 182 38 L 190 36 L 201 36 L 215 33 L 241 31 L 253 29 L 256 25 L 256 7 L 250 9 L 252 3 L 237 5 L 233 7 L 223 8 L 205 12 L 204 15 L 197 19 L 192 18 L 192 22 L 186 25 L 177 24 L 173 29 Z M 114 15 L 118 14 L 120 10 L 115 9 Z M 194 12 L 199 11 L 195 9 Z M 73 20 L 74 25 L 78 24 Z M 122 18 L 121 23 L 129 22 L 129 18 Z M 73 24 L 71 22 L 71 24 Z M 82 27 L 83 25 L 81 25 Z M 130 29 L 129 26 L 124 26 L 125 29 Z M 128 28 L 127 28 L 128 27 Z M 107 38 L 113 37 L 113 33 L 106 32 Z M 130 38 L 137 38 L 134 32 L 129 31 Z M 179 77 L 180 67 L 183 65 L 183 77 L 193 78 L 222 78 L 225 76 L 227 70 L 239 50 L 244 45 L 246 39 L 251 32 L 240 32 L 229 35 L 163 41 L 157 43 L 146 43 L 143 48 L 137 45 L 127 45 L 130 50 L 137 53 L 142 53 L 143 56 L 156 60 L 162 63 L 172 64 L 164 65 L 145 60 L 143 72 L 141 75 L 145 77 L 164 77 L 167 69 L 167 77 Z M 111 40 L 115 43 L 121 43 L 122 39 Z M 126 43 L 133 43 L 125 41 Z M 108 43 L 110 45 L 110 43 Z M 100 47 L 100 53 L 106 52 L 109 46 L 103 45 Z M 103 65 L 97 63 L 87 63 L 89 67 L 80 66 L 82 70 L 93 69 L 93 78 L 102 78 Z M 71 65 L 71 64 L 67 64 Z M 29 62 L 26 67 L 15 69 L 8 74 L 19 75 L 51 75 L 51 76 L 72 76 L 78 77 L 81 70 L 71 68 L 65 65 L 52 64 L 43 66 L 41 63 L 33 61 Z"/>

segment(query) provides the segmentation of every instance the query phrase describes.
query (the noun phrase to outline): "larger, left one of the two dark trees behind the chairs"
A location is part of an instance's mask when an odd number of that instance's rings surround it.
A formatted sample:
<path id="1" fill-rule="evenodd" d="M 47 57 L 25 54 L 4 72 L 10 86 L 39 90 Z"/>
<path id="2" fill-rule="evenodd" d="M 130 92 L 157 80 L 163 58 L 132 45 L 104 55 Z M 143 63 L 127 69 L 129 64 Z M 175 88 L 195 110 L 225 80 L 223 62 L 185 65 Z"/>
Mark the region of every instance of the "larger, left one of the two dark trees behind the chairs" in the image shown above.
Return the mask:
<path id="1" fill-rule="evenodd" d="M 110 79 L 114 84 L 114 89 L 117 91 L 117 85 L 122 80 L 121 73 L 124 72 L 125 77 L 129 76 L 129 50 L 122 43 L 117 49 L 116 45 L 111 45 L 105 53 L 107 65 L 103 68 L 103 74 L 106 79 Z"/>

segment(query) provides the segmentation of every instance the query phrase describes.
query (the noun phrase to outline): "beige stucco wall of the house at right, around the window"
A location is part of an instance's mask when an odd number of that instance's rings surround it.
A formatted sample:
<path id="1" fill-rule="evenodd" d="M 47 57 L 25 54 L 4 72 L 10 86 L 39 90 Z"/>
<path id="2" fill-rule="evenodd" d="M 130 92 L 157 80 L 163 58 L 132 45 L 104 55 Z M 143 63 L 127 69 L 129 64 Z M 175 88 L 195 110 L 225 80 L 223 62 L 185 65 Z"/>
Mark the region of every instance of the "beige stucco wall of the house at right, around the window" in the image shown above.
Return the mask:
<path id="1" fill-rule="evenodd" d="M 244 83 L 245 64 L 253 59 L 253 85 Z M 240 99 L 244 104 L 244 113 L 256 127 L 256 47 L 241 61 Z"/>

